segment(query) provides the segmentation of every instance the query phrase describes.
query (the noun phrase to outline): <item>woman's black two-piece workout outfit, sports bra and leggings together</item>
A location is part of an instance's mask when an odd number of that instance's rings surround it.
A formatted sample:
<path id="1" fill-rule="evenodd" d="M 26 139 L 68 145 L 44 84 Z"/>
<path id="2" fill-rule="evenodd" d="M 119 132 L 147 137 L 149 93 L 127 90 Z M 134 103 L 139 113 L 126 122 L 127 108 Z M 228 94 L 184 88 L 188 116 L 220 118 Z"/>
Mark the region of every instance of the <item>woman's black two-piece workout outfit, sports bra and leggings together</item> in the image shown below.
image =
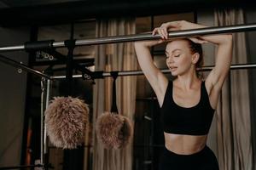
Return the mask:
<path id="1" fill-rule="evenodd" d="M 197 105 L 184 108 L 173 101 L 173 85 L 168 83 L 161 122 L 165 133 L 206 135 L 212 123 L 214 110 L 210 105 L 205 82 L 201 82 L 201 98 Z M 207 146 L 191 155 L 180 155 L 167 150 L 160 158 L 160 170 L 218 170 L 218 161 Z"/>

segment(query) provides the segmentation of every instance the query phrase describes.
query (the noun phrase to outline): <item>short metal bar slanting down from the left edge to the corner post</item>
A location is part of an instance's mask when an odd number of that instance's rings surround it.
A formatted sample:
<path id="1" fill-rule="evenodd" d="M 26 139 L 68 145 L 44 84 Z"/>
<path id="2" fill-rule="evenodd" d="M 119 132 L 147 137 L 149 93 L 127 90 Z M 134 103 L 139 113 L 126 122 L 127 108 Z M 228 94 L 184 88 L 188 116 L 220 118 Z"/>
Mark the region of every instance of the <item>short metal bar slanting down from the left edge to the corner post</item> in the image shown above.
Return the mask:
<path id="1" fill-rule="evenodd" d="M 7 65 L 12 65 L 15 68 L 22 69 L 24 71 L 30 72 L 30 73 L 32 73 L 34 75 L 39 76 L 39 77 L 44 77 L 44 78 L 50 79 L 50 77 L 48 75 L 46 75 L 46 74 L 44 74 L 44 73 L 42 73 L 40 71 L 36 71 L 36 70 L 34 70 L 32 68 L 29 68 L 28 66 L 23 65 L 23 64 L 15 61 L 13 59 L 9 59 L 9 58 L 1 55 L 1 54 L 0 54 L 0 62 L 3 62 L 5 64 L 7 64 Z"/>

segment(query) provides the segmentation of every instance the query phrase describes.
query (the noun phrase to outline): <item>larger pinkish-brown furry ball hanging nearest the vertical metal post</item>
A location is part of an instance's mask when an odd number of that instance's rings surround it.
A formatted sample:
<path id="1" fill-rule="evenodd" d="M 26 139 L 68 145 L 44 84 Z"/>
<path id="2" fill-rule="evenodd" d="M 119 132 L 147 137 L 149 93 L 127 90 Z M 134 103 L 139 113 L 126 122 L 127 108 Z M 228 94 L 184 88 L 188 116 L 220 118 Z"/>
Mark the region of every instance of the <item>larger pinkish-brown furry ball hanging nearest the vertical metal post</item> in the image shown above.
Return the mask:
<path id="1" fill-rule="evenodd" d="M 83 100 L 55 97 L 44 112 L 49 140 L 56 147 L 74 149 L 82 144 L 89 108 Z"/>

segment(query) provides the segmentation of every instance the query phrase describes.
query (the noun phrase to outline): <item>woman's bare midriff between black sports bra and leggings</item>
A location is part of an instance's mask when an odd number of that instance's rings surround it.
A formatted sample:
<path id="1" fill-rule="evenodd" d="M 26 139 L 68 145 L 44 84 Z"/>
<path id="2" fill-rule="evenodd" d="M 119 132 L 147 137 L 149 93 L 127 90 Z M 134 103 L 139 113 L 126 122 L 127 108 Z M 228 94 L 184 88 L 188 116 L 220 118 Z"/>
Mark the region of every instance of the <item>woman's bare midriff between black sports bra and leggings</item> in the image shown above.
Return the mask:
<path id="1" fill-rule="evenodd" d="M 207 144 L 207 135 L 192 136 L 165 133 L 166 149 L 179 155 L 191 155 L 202 150 Z"/>

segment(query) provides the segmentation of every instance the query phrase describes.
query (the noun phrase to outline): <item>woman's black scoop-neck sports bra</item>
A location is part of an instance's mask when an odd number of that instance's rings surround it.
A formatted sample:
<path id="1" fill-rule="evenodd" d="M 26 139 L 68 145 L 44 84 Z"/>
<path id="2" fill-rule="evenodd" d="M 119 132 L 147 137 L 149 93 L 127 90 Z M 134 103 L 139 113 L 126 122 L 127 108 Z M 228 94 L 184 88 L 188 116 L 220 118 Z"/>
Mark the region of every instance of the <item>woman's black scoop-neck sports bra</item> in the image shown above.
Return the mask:
<path id="1" fill-rule="evenodd" d="M 200 102 L 189 108 L 177 105 L 172 97 L 172 82 L 169 81 L 164 102 L 160 108 L 164 132 L 188 135 L 205 135 L 212 124 L 214 110 L 210 105 L 205 82 L 201 82 Z"/>

